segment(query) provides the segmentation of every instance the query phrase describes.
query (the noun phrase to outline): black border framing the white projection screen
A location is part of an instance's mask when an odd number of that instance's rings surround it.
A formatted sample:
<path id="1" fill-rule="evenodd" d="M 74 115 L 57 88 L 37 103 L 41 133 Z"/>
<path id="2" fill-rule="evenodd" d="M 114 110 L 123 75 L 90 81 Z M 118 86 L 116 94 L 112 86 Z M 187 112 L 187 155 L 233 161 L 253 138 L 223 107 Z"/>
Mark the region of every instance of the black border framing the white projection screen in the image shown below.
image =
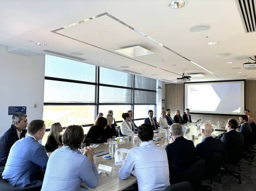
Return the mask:
<path id="1" fill-rule="evenodd" d="M 184 82 L 183 84 L 183 105 L 184 105 L 184 111 L 186 109 L 185 107 L 185 84 L 191 84 L 191 83 L 216 83 L 216 82 L 244 82 L 243 86 L 244 86 L 244 109 L 245 108 L 245 80 L 221 80 L 221 81 L 207 81 L 207 82 Z M 227 116 L 240 116 L 241 114 L 220 114 L 220 113 L 202 113 L 202 112 L 189 112 L 190 114 L 204 114 L 204 115 L 227 115 Z"/>

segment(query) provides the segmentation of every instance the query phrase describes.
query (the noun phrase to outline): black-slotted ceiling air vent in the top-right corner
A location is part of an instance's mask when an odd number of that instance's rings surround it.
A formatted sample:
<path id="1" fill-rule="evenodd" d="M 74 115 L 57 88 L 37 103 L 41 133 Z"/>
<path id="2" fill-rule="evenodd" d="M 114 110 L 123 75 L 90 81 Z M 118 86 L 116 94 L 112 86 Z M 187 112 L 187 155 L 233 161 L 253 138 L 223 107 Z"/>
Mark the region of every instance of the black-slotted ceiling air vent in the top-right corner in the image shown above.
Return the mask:
<path id="1" fill-rule="evenodd" d="M 237 8 L 241 16 L 245 33 L 256 31 L 256 7 L 255 0 L 236 0 Z"/>

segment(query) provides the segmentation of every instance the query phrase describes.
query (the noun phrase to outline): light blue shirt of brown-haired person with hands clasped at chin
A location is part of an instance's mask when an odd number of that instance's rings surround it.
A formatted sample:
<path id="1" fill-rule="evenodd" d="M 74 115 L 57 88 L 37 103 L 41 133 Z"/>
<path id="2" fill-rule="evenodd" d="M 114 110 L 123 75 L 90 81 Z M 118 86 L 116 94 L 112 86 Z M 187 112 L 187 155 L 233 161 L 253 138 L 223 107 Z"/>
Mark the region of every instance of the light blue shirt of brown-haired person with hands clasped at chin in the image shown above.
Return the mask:
<path id="1" fill-rule="evenodd" d="M 94 162 L 78 149 L 63 146 L 49 157 L 41 191 L 78 191 L 82 180 L 89 187 L 98 185 L 99 175 Z"/>

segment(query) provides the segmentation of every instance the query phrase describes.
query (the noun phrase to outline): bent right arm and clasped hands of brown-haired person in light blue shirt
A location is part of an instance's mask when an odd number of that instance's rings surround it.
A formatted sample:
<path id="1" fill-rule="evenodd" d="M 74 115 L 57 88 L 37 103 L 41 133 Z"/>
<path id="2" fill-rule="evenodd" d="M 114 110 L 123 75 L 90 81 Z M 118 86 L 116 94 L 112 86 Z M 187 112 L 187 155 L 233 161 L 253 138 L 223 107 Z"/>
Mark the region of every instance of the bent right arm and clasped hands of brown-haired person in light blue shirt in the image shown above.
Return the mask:
<path id="1" fill-rule="evenodd" d="M 83 152 L 83 155 L 85 155 L 85 159 L 83 160 L 80 168 L 79 168 L 79 177 L 85 181 L 87 186 L 90 188 L 96 187 L 99 182 L 99 174 L 98 170 L 95 166 L 95 163 L 93 161 L 93 148 L 90 146 L 87 146 L 85 148 L 85 152 Z"/>

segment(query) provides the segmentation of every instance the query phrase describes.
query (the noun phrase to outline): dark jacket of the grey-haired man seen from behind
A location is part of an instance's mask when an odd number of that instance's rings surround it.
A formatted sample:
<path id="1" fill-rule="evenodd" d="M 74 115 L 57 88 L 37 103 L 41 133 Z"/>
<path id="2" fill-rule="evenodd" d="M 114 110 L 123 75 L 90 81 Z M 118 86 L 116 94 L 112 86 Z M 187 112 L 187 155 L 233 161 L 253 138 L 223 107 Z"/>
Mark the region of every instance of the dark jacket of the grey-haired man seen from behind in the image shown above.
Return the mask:
<path id="1" fill-rule="evenodd" d="M 187 170 L 195 160 L 195 146 L 191 140 L 177 137 L 166 146 L 170 177 Z"/>

